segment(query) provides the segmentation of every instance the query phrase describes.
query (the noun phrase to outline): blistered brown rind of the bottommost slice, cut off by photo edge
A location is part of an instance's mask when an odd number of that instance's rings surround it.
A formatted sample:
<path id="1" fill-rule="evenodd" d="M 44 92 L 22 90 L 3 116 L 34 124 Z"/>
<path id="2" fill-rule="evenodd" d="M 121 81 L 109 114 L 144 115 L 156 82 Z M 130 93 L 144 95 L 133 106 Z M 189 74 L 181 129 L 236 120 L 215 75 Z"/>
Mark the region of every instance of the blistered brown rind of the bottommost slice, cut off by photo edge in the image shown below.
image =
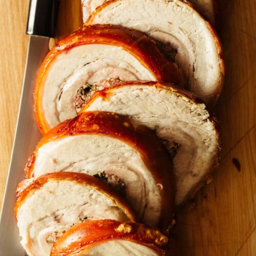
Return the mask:
<path id="1" fill-rule="evenodd" d="M 164 255 L 168 239 L 155 228 L 135 222 L 99 220 L 80 223 L 70 228 L 53 244 L 51 256 L 80 255 L 97 244 L 122 239 L 156 250 Z"/>

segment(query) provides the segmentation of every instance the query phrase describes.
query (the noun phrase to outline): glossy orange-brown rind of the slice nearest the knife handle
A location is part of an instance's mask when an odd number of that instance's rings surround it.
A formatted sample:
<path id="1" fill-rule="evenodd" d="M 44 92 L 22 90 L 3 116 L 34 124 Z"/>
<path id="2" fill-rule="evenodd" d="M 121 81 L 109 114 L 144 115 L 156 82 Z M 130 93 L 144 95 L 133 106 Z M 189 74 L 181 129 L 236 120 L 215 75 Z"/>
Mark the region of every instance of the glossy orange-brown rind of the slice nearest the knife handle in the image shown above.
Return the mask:
<path id="1" fill-rule="evenodd" d="M 105 44 L 120 46 L 136 57 L 145 68 L 151 71 L 158 81 L 179 84 L 178 69 L 156 46 L 156 42 L 144 33 L 115 25 L 92 25 L 82 27 L 69 36 L 58 41 L 51 49 L 38 71 L 34 90 L 34 113 L 37 125 L 42 134 L 50 129 L 44 118 L 41 107 L 42 91 L 46 76 L 54 59 L 62 52 L 88 44 Z"/>

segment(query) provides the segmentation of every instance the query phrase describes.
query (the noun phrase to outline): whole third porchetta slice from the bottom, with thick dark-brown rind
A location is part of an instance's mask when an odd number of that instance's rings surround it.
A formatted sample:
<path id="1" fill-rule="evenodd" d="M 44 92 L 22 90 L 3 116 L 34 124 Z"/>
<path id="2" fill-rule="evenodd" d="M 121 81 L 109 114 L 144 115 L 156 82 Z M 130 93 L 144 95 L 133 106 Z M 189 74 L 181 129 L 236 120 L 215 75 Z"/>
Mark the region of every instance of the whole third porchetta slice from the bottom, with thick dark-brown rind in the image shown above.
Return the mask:
<path id="1" fill-rule="evenodd" d="M 78 172 L 109 183 L 125 195 L 143 223 L 168 227 L 173 217 L 173 165 L 145 126 L 108 112 L 81 113 L 54 127 L 38 143 L 27 177 Z"/>

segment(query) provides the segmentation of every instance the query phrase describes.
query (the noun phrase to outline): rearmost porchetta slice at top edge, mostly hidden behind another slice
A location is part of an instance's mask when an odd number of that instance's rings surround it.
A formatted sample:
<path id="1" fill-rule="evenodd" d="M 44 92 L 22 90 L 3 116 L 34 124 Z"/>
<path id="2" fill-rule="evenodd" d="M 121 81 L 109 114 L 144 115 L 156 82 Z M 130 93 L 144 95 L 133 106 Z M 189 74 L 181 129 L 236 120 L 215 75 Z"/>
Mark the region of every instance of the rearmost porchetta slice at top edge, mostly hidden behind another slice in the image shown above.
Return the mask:
<path id="1" fill-rule="evenodd" d="M 82 4 L 82 18 L 86 22 L 90 14 L 100 5 L 108 0 L 81 0 Z M 215 9 L 217 0 L 190 0 L 212 24 L 215 23 Z"/>

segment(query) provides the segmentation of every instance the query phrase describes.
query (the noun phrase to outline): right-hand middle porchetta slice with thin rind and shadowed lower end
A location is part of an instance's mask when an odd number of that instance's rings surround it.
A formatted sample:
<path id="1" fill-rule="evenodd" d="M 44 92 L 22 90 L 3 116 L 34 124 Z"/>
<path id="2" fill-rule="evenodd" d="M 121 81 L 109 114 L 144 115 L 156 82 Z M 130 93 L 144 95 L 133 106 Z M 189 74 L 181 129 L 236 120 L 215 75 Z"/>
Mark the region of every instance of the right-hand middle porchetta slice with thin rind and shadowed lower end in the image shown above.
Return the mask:
<path id="1" fill-rule="evenodd" d="M 123 82 L 96 92 L 82 112 L 111 111 L 146 125 L 174 156 L 176 204 L 195 194 L 218 163 L 216 124 L 193 94 L 163 82 Z"/>

